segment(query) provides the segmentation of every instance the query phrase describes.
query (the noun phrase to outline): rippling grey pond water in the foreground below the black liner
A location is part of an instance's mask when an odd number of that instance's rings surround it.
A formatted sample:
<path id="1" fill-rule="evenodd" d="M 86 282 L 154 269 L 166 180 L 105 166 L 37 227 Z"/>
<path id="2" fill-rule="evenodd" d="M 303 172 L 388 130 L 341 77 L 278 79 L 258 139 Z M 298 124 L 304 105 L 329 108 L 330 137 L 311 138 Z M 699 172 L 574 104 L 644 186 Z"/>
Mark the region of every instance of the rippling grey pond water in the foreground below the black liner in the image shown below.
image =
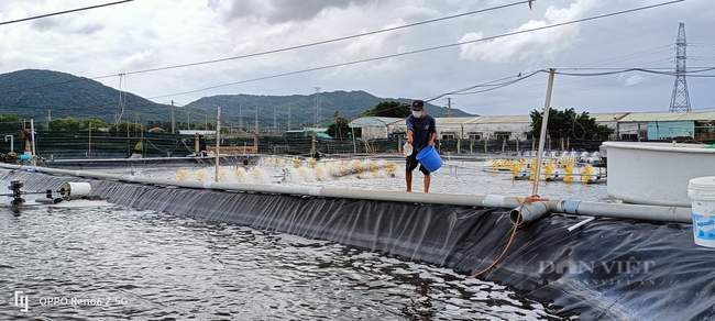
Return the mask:
<path id="1" fill-rule="evenodd" d="M 2 209 L 0 230 L 3 320 L 559 319 L 450 269 L 170 214 Z M 14 306 L 14 291 L 28 296 L 28 312 Z"/>

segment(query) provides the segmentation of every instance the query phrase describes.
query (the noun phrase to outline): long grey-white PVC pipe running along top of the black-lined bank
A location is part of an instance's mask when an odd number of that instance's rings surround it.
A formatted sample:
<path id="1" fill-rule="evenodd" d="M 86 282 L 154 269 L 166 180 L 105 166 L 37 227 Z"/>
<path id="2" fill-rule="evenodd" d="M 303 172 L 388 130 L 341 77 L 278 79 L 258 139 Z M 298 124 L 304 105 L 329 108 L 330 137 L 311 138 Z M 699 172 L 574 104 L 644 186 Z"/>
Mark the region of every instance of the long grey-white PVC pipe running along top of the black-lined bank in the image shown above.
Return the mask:
<path id="1" fill-rule="evenodd" d="M 19 169 L 19 165 L 0 164 L 0 168 Z M 414 203 L 436 203 L 464 207 L 485 208 L 518 208 L 524 198 L 498 195 L 454 195 L 454 193 L 413 193 L 405 191 L 389 190 L 359 190 L 327 187 L 302 187 L 302 186 L 276 186 L 258 184 L 234 184 L 234 182 L 211 182 L 196 180 L 173 180 L 153 177 L 141 177 L 125 174 L 110 174 L 90 170 L 69 170 L 47 167 L 36 167 L 35 170 L 46 174 L 68 175 L 96 179 L 109 179 L 128 182 L 151 184 L 157 186 L 176 186 L 196 189 L 252 191 L 262 193 L 299 195 L 326 198 L 362 199 L 374 201 L 397 201 Z M 601 203 L 580 200 L 549 200 L 546 202 L 531 203 L 534 215 L 530 220 L 537 220 L 547 213 L 566 213 L 573 215 L 592 215 L 604 218 L 617 218 L 627 220 L 662 221 L 692 223 L 691 208 L 640 206 L 624 203 Z M 529 206 L 529 204 L 527 204 Z M 543 208 L 546 210 L 541 210 Z M 538 210 L 537 210 L 538 209 Z M 517 209 L 518 210 L 518 209 Z M 522 213 L 524 214 L 524 213 Z M 526 219 L 522 221 L 527 223 Z"/>

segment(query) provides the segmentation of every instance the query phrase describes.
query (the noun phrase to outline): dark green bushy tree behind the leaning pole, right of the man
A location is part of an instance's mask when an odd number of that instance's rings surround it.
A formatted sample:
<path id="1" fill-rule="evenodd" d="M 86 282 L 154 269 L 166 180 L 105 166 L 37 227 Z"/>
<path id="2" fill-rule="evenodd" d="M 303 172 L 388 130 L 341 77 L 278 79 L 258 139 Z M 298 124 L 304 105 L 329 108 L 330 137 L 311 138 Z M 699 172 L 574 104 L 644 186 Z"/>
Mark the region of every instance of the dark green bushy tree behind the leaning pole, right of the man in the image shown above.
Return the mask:
<path id="1" fill-rule="evenodd" d="M 531 111 L 531 133 L 539 136 L 541 133 L 541 112 L 536 109 Z M 596 123 L 595 118 L 591 118 L 588 112 L 576 114 L 573 108 L 564 111 L 549 109 L 549 122 L 547 133 L 553 140 L 572 137 L 578 140 L 607 140 L 614 130 L 606 125 Z"/>

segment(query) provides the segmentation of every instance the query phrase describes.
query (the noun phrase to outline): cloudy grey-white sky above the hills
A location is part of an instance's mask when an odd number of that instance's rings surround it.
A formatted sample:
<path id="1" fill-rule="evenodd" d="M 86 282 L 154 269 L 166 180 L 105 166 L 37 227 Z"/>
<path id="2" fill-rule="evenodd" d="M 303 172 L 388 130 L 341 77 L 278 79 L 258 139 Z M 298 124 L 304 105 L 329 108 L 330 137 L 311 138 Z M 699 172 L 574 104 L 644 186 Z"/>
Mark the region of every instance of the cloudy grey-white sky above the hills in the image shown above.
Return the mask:
<path id="1" fill-rule="evenodd" d="M 0 23 L 117 1 L 1 1 Z M 715 66 L 712 0 L 610 15 L 668 1 L 538 0 L 529 10 L 519 0 L 135 0 L 0 25 L 0 74 L 110 76 L 97 80 L 160 103 L 320 87 L 385 98 L 444 95 L 432 103 L 451 98 L 470 113 L 528 114 L 543 108 L 547 91 L 548 74 L 534 71 L 673 71 L 681 22 L 688 69 Z M 579 20 L 587 21 L 571 23 Z M 715 78 L 686 79 L 693 111 L 715 110 Z M 642 71 L 558 74 L 551 106 L 668 111 L 674 80 Z"/>

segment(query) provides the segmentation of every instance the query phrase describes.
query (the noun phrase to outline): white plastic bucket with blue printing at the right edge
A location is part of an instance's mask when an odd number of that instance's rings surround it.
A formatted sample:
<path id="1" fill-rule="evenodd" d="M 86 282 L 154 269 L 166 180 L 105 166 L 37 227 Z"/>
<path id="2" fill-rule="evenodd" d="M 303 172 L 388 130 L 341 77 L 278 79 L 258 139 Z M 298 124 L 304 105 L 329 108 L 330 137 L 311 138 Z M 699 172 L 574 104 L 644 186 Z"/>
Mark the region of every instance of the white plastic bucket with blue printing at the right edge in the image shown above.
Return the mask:
<path id="1" fill-rule="evenodd" d="M 715 247 L 715 176 L 691 179 L 688 196 L 693 207 L 695 244 Z"/>

